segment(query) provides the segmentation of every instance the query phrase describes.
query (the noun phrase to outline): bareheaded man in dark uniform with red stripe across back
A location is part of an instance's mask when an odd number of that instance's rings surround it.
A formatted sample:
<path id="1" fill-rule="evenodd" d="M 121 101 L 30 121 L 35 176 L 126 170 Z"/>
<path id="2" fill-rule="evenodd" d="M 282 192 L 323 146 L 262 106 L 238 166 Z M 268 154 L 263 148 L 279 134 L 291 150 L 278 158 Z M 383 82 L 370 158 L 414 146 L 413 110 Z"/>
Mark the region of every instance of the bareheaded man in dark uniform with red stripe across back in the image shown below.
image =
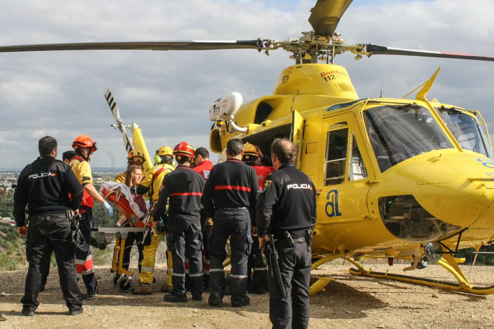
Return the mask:
<path id="1" fill-rule="evenodd" d="M 231 235 L 230 284 L 232 306 L 250 303 L 247 289 L 247 256 L 250 252 L 250 215 L 255 214 L 259 185 L 252 167 L 242 162 L 244 143 L 231 139 L 226 145 L 228 160 L 213 167 L 209 173 L 203 194 L 206 216 L 213 219 L 208 238 L 209 249 L 209 305 L 223 303 L 225 275 L 223 261 L 226 259 L 225 244 Z"/>

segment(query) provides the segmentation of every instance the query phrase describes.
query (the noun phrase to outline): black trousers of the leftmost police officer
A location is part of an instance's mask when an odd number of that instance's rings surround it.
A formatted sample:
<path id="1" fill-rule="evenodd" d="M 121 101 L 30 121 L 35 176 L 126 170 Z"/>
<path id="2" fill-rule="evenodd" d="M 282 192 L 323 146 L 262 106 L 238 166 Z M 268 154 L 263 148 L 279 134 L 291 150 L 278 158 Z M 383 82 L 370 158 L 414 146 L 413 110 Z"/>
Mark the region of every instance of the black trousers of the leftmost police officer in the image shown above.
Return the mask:
<path id="1" fill-rule="evenodd" d="M 65 219 L 64 214 L 30 217 L 26 241 L 29 269 L 21 299 L 23 309 L 34 311 L 40 304 L 37 299 L 41 286 L 41 264 L 49 262 L 52 249 L 55 252 L 65 304 L 69 310 L 79 310 L 82 300 L 75 268 L 76 246 L 72 243 L 70 222 Z"/>

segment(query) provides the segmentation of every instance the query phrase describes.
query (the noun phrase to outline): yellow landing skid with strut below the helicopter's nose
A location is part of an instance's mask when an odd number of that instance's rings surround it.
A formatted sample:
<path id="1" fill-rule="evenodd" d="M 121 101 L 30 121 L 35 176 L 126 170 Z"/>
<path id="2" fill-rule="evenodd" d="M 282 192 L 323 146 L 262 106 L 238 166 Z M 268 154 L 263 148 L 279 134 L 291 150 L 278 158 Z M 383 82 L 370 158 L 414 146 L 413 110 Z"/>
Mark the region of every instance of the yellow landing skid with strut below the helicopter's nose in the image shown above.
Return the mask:
<path id="1" fill-rule="evenodd" d="M 362 265 L 359 262 L 351 258 L 346 258 L 346 260 L 350 261 L 352 264 L 357 266 L 357 268 L 348 269 L 348 272 L 354 275 L 362 275 L 362 276 L 367 276 L 377 279 L 395 280 L 400 282 L 412 283 L 416 285 L 429 286 L 441 290 L 451 290 L 455 292 L 471 293 L 474 295 L 488 295 L 494 293 L 494 286 L 479 287 L 479 286 L 471 285 L 468 282 L 468 279 L 461 271 L 461 269 L 456 264 L 456 261 L 454 260 L 453 256 L 451 255 L 443 255 L 443 257 L 437 263 L 443 266 L 445 269 L 447 269 L 451 274 L 453 274 L 454 278 L 458 281 L 458 283 L 449 282 L 449 281 L 440 281 L 440 280 L 434 280 L 434 279 L 428 279 L 422 277 L 413 277 L 402 274 L 394 274 L 394 273 L 390 273 L 389 271 L 375 272 L 372 271 L 372 269 L 366 270 L 364 267 L 362 267 Z"/>

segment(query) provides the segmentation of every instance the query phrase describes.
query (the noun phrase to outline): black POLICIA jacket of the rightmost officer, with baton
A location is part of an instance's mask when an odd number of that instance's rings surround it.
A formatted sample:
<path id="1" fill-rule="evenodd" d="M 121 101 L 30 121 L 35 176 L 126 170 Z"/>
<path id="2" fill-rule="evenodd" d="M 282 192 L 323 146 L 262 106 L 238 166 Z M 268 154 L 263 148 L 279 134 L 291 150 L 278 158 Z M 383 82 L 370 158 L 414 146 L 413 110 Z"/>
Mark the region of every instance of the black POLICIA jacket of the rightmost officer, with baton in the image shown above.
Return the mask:
<path id="1" fill-rule="evenodd" d="M 316 224 L 316 188 L 311 179 L 291 162 L 284 164 L 264 181 L 256 209 L 259 236 L 283 238 L 288 231 L 301 238 Z"/>

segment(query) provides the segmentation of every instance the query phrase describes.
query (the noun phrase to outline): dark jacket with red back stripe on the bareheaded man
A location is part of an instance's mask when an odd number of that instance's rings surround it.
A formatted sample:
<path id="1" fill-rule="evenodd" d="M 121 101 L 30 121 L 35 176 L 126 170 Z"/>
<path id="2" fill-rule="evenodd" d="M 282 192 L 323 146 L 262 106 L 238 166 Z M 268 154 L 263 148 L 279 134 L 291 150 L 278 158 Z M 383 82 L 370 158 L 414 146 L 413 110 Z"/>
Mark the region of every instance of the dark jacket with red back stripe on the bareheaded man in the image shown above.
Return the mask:
<path id="1" fill-rule="evenodd" d="M 214 209 L 246 207 L 252 218 L 258 191 L 257 174 L 252 167 L 237 159 L 218 163 L 204 187 L 206 216 L 212 218 Z"/>

